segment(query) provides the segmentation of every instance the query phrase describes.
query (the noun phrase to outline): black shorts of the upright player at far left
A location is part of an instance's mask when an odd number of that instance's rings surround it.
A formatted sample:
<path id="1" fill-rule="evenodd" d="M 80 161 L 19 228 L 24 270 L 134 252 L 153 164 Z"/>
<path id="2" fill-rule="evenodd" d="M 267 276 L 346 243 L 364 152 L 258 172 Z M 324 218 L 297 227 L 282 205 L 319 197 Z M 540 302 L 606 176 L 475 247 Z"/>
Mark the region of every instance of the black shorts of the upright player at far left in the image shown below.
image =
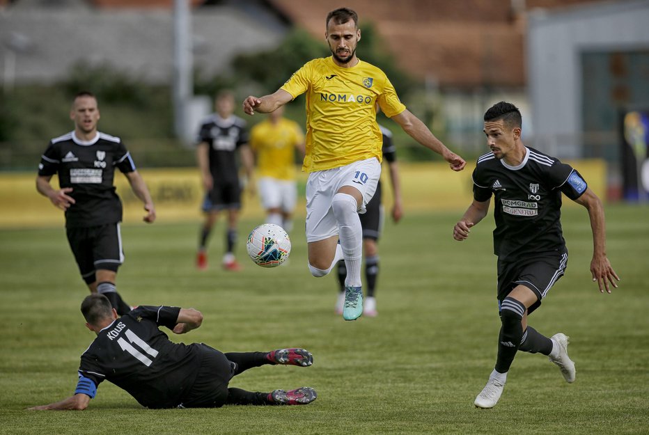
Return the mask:
<path id="1" fill-rule="evenodd" d="M 79 265 L 81 278 L 86 284 L 95 282 L 95 270 L 116 272 L 124 262 L 120 224 L 83 228 L 66 228 L 68 243 Z"/>

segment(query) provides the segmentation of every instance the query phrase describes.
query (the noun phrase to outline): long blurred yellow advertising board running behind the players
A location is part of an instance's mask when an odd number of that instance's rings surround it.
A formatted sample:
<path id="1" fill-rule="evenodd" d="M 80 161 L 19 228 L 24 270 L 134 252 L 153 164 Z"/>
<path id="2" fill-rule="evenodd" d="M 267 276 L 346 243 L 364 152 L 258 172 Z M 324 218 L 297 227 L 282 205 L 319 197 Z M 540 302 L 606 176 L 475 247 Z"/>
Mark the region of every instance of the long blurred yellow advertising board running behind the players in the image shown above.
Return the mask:
<path id="1" fill-rule="evenodd" d="M 567 161 L 579 170 L 589 187 L 604 199 L 606 193 L 606 164 L 602 160 Z M 402 198 L 405 216 L 414 212 L 458 211 L 458 217 L 472 200 L 471 173 L 475 164 L 455 173 L 443 163 L 399 162 Z M 156 207 L 157 222 L 201 221 L 203 189 L 195 168 L 144 169 L 140 171 Z M 35 226 L 64 226 L 63 211 L 57 209 L 45 196 L 36 191 L 36 172 L 0 173 L 0 228 Z M 142 203 L 130 189 L 126 177 L 115 175 L 118 195 L 124 205 L 124 222 L 141 222 Z M 383 171 L 384 203 L 389 209 L 392 191 L 389 174 Z M 299 191 L 304 192 L 306 174 L 299 175 Z M 58 179 L 52 178 L 58 187 Z M 295 215 L 304 218 L 304 193 L 298 198 Z M 242 195 L 242 218 L 263 220 L 263 209 L 258 196 Z M 572 201 L 564 200 L 565 205 Z"/>

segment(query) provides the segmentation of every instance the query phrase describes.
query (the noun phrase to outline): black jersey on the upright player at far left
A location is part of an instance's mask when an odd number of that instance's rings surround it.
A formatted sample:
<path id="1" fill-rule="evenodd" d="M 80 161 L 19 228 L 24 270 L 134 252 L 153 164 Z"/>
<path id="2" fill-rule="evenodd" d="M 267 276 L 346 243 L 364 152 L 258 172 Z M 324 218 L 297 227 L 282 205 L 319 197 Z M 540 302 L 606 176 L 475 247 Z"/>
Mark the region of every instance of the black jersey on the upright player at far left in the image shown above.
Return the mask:
<path id="1" fill-rule="evenodd" d="M 61 188 L 72 187 L 76 203 L 65 211 L 65 226 L 89 227 L 122 220 L 122 203 L 113 185 L 115 168 L 135 171 L 122 141 L 97 132 L 92 141 L 81 141 L 75 132 L 49 141 L 40 159 L 38 175 L 58 173 Z"/>

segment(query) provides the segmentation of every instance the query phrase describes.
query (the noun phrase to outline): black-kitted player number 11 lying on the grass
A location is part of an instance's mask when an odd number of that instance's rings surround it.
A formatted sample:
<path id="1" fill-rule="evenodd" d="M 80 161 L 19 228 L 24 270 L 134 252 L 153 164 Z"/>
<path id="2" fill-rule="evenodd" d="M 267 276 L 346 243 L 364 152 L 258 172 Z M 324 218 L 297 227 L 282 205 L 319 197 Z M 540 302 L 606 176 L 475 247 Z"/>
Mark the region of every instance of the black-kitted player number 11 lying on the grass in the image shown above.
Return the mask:
<path id="1" fill-rule="evenodd" d="M 218 408 L 224 404 L 298 405 L 317 397 L 309 387 L 252 393 L 228 388 L 232 377 L 266 364 L 313 364 L 304 349 L 223 354 L 208 345 L 171 342 L 159 326 L 182 334 L 198 328 L 203 315 L 193 308 L 140 306 L 118 317 L 101 294 L 81 303 L 86 327 L 97 338 L 81 355 L 75 395 L 32 410 L 83 410 L 97 386 L 110 381 L 126 390 L 142 406 L 159 408 Z"/>

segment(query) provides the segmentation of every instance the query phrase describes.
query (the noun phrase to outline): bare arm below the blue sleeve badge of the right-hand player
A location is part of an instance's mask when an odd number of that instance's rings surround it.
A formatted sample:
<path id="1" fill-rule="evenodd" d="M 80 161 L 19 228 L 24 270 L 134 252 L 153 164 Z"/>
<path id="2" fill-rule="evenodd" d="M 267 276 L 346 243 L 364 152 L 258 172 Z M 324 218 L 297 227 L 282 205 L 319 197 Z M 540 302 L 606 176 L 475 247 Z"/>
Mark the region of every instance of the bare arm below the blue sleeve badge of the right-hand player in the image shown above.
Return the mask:
<path id="1" fill-rule="evenodd" d="M 597 281 L 597 286 L 600 287 L 600 292 L 611 292 L 609 283 L 618 288 L 616 280 L 620 280 L 618 275 L 611 267 L 611 263 L 607 258 L 606 253 L 606 228 L 604 224 L 604 207 L 602 201 L 590 189 L 586 191 L 576 200 L 575 203 L 581 204 L 588 210 L 588 216 L 591 218 L 591 230 L 593 230 L 593 260 L 591 260 L 591 274 L 593 274 L 593 281 Z M 613 280 L 613 278 L 615 280 Z"/>

